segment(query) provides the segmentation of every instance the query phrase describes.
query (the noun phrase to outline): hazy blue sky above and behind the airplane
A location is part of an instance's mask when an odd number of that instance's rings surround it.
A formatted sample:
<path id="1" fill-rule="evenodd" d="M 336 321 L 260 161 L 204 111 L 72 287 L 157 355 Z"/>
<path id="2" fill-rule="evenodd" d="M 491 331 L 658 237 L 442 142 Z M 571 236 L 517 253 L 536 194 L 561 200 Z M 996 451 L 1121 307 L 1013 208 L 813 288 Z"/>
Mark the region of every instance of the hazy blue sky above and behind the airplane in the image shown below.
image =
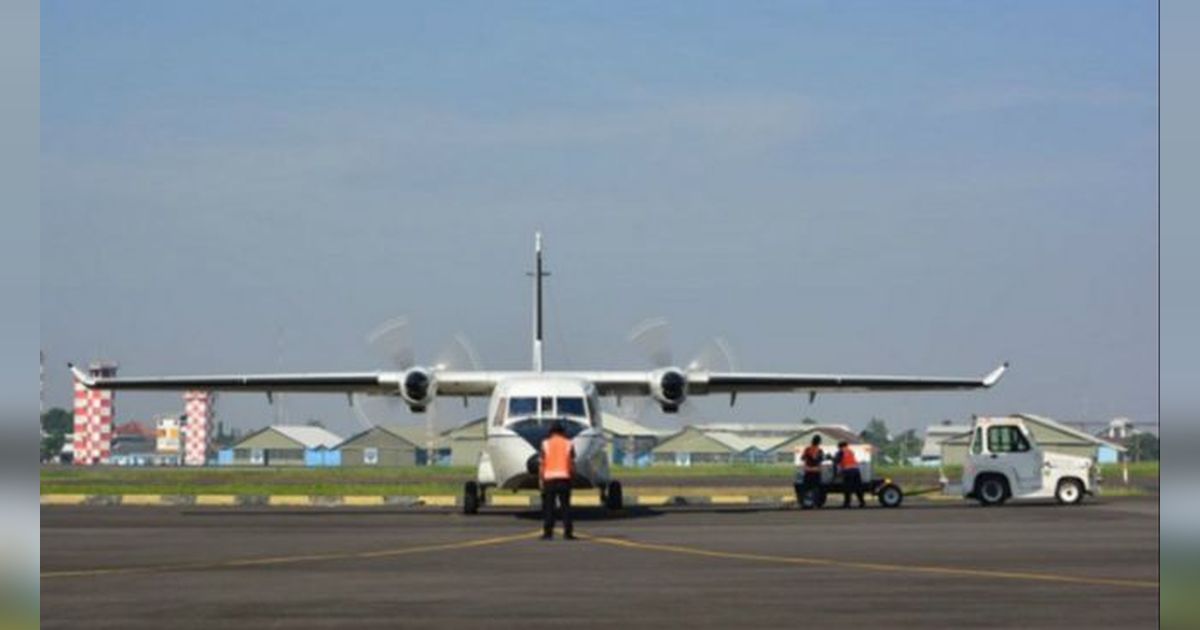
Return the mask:
<path id="1" fill-rule="evenodd" d="M 698 416 L 1153 420 L 1156 20 L 1154 2 L 43 2 L 42 342 L 126 374 L 358 370 L 404 313 L 426 356 L 462 330 L 521 367 L 542 229 L 551 366 L 636 366 L 623 338 L 659 314 L 677 356 L 722 335 L 751 370 L 1014 364 L 984 394 Z M 286 409 L 355 426 L 336 397 Z M 274 416 L 241 396 L 221 414 Z"/>

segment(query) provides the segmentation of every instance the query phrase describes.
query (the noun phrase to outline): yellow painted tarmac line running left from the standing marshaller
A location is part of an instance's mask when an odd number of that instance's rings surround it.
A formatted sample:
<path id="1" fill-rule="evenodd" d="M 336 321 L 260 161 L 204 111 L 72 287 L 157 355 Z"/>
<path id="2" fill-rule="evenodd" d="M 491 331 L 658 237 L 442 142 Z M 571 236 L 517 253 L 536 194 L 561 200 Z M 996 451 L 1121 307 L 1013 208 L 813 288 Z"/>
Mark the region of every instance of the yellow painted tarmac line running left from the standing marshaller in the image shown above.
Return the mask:
<path id="1" fill-rule="evenodd" d="M 194 564 L 166 564 L 160 566 L 113 566 L 106 569 L 78 569 L 70 571 L 43 571 L 42 580 L 58 577 L 98 577 L 107 575 L 133 575 L 133 574 L 161 574 L 176 571 L 204 571 L 218 569 L 240 569 L 246 566 L 270 566 L 278 564 L 298 564 L 320 560 L 346 560 L 346 559 L 370 559 L 390 558 L 394 556 L 409 556 L 415 553 L 431 553 L 438 551 L 466 550 L 473 547 L 486 547 L 490 545 L 503 545 L 518 540 L 528 540 L 541 535 L 541 530 L 527 532 L 523 534 L 511 534 L 506 536 L 481 538 L 463 540 L 458 542 L 439 542 L 434 545 L 419 545 L 415 547 L 397 547 L 377 551 L 350 551 L 334 553 L 307 553 L 300 556 L 275 556 L 266 558 L 240 558 L 216 563 Z"/>

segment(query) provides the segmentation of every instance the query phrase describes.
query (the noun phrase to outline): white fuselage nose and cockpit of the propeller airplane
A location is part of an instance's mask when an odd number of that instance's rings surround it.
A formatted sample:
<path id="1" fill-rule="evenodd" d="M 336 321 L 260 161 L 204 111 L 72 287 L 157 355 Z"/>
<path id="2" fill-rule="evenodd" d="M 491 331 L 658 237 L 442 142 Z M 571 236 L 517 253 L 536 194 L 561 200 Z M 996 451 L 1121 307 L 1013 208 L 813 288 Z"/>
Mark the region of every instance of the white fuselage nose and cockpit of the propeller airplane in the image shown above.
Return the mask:
<path id="1" fill-rule="evenodd" d="M 506 490 L 538 487 L 538 457 L 550 426 L 563 422 L 575 446 L 575 487 L 610 480 L 600 400 L 587 380 L 530 373 L 496 385 L 487 406 L 478 481 Z"/>

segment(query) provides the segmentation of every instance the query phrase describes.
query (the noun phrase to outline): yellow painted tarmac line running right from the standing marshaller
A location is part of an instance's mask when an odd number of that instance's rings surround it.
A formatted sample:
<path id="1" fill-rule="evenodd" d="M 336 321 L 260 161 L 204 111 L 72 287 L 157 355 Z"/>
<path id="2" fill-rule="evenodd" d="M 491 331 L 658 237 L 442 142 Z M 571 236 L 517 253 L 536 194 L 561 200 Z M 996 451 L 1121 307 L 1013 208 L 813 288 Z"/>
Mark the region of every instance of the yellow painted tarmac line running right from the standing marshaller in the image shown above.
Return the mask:
<path id="1" fill-rule="evenodd" d="M 1037 574 L 1037 572 L 1025 572 L 1025 571 L 994 571 L 989 569 L 965 569 L 958 566 L 886 564 L 886 563 L 868 563 L 868 562 L 852 562 L 852 560 L 834 560 L 828 558 L 766 556 L 762 553 L 713 551 L 698 547 L 685 547 L 682 545 L 659 545 L 654 542 L 637 542 L 634 540 L 624 540 L 619 538 L 608 538 L 608 536 L 592 536 L 587 534 L 578 534 L 578 536 L 590 540 L 593 542 L 598 542 L 600 545 L 611 545 L 614 547 L 625 547 L 625 548 L 634 548 L 642 551 L 658 551 L 664 553 L 678 553 L 683 556 L 701 556 L 707 558 L 724 558 L 731 560 L 754 560 L 754 562 L 764 562 L 772 564 L 792 564 L 792 565 L 808 565 L 808 566 L 834 566 L 840 569 L 860 569 L 866 571 L 882 571 L 882 572 L 896 572 L 896 574 L 924 574 L 924 575 L 940 575 L 949 577 L 983 577 L 989 580 L 992 578 L 1024 580 L 1031 582 L 1060 582 L 1069 584 L 1093 584 L 1093 586 L 1128 587 L 1128 588 L 1158 588 L 1158 582 L 1153 580 L 1120 580 L 1109 577 L 1085 577 L 1085 576 Z"/>

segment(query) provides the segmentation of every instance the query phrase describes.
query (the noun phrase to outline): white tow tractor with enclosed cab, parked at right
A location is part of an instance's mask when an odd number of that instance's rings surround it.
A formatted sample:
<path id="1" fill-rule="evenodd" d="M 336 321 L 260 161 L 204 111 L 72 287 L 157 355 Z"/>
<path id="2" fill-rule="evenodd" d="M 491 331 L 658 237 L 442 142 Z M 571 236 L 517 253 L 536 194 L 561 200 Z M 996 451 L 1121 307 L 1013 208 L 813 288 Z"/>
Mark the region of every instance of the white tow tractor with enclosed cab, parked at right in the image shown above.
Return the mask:
<path id="1" fill-rule="evenodd" d="M 1020 418 L 976 418 L 962 466 L 962 496 L 983 505 L 1049 499 L 1063 505 L 1099 492 L 1096 462 L 1038 446 Z"/>

